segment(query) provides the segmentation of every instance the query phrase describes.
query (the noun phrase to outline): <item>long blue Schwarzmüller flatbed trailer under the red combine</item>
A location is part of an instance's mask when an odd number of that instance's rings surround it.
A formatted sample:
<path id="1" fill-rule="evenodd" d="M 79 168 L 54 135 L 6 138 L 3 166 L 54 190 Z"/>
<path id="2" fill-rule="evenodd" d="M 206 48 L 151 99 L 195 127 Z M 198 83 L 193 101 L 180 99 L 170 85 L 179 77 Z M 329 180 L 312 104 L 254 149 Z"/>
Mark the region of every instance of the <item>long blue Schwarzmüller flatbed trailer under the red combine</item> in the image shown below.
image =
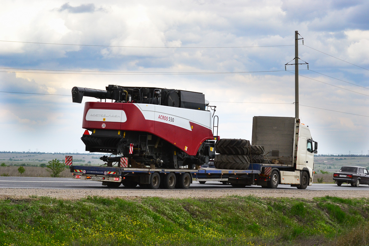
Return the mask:
<path id="1" fill-rule="evenodd" d="M 159 167 L 132 168 L 106 166 L 70 166 L 73 179 L 102 181 L 103 185 L 118 187 L 144 188 L 184 188 L 190 187 L 192 181 L 220 181 L 235 187 L 256 184 L 262 174 L 263 164 L 251 163 L 247 170 L 228 170 L 217 168 L 168 169 Z M 169 177 L 168 177 L 169 176 Z M 172 177 L 172 180 L 170 180 Z M 264 177 L 262 177 L 264 179 Z M 173 181 L 174 179 L 174 181 Z M 171 185 L 173 184 L 173 185 Z M 147 187 L 146 187 L 147 186 Z"/>

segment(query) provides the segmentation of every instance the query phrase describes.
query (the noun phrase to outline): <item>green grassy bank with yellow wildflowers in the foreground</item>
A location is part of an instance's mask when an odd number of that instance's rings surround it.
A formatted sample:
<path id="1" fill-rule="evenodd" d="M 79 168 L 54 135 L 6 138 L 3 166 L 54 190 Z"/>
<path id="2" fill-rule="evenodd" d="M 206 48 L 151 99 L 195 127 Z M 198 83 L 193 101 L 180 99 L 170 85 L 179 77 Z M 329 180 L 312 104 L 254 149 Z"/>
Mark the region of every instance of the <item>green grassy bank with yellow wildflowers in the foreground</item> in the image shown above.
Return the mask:
<path id="1" fill-rule="evenodd" d="M 0 200 L 0 245 L 368 245 L 368 199 Z"/>

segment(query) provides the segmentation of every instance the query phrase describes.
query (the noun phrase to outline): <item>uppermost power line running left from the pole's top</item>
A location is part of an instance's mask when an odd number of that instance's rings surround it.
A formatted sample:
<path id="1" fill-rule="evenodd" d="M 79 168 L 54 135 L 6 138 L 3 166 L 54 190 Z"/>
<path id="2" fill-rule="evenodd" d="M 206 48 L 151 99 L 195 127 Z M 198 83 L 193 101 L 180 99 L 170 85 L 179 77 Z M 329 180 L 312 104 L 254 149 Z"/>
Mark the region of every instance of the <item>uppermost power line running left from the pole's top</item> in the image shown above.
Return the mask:
<path id="1" fill-rule="evenodd" d="M 25 44 L 53 44 L 53 45 L 74 45 L 74 46 L 96 46 L 96 47 L 121 47 L 121 48 L 165 48 L 165 49 L 217 49 L 217 48 L 262 48 L 262 47 L 281 47 L 294 45 L 264 45 L 264 46 L 224 46 L 224 47 L 160 47 L 160 46 L 120 46 L 120 45 L 90 45 L 90 44 L 58 44 L 58 43 L 41 43 L 41 42 L 22 42 L 0 40 L 0 42 L 13 42 Z"/>

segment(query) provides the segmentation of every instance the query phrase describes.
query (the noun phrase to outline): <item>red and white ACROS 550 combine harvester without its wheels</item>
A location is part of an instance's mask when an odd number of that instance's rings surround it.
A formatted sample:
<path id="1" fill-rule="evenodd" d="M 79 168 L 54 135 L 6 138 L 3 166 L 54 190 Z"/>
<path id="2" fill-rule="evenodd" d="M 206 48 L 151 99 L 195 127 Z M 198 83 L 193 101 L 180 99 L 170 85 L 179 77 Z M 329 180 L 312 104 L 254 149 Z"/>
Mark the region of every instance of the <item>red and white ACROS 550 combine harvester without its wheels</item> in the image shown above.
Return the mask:
<path id="1" fill-rule="evenodd" d="M 73 102 L 81 103 L 83 96 L 100 102 L 85 103 L 82 128 L 86 131 L 81 139 L 86 151 L 118 155 L 100 158 L 108 166 L 118 162 L 121 167 L 177 169 L 207 163 L 215 156 L 212 115 L 202 93 L 113 85 L 106 90 L 73 87 Z"/>

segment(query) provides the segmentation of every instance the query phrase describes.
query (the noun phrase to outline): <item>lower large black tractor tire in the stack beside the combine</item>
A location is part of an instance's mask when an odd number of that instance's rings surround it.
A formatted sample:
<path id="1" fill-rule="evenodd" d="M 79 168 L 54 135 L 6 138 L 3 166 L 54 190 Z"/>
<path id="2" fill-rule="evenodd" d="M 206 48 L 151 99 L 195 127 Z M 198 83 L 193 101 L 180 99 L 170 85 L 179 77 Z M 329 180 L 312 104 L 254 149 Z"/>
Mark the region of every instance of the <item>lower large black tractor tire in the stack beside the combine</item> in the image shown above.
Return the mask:
<path id="1" fill-rule="evenodd" d="M 218 169 L 246 170 L 250 160 L 247 155 L 216 155 L 214 165 Z"/>

